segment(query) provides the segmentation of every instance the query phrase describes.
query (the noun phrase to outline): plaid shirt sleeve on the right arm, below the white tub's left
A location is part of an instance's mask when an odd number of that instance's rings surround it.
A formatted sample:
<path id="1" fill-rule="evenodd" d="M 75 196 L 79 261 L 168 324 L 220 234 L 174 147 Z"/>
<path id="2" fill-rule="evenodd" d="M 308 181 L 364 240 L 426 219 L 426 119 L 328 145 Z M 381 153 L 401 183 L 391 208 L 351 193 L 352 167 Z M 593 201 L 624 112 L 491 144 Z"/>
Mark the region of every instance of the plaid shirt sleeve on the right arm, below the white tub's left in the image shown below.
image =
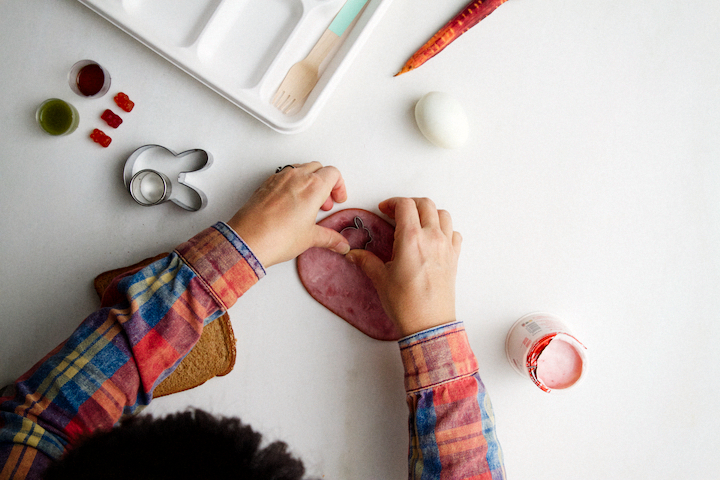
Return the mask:
<path id="1" fill-rule="evenodd" d="M 462 322 L 399 342 L 410 410 L 412 480 L 505 478 L 490 397 Z"/>

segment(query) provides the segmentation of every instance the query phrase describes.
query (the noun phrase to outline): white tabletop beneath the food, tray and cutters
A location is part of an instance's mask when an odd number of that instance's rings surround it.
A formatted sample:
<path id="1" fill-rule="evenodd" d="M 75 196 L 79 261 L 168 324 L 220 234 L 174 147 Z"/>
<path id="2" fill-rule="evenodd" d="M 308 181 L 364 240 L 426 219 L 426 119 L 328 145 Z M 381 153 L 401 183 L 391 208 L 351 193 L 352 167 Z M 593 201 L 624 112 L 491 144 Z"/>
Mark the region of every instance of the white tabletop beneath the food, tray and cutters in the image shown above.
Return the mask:
<path id="1" fill-rule="evenodd" d="M 510 478 L 716 478 L 720 468 L 720 5 L 711 0 L 511 0 L 419 70 L 393 74 L 465 0 L 395 0 L 313 126 L 282 135 L 78 2 L 0 2 L 0 383 L 98 305 L 93 277 L 228 219 L 278 165 L 340 168 L 346 206 L 428 196 L 464 237 L 457 310 L 491 394 Z M 74 95 L 91 58 L 111 94 Z M 136 107 L 103 149 L 112 94 Z M 457 150 L 420 134 L 432 90 L 462 99 Z M 35 108 L 59 97 L 80 128 L 54 138 Z M 105 128 L 106 131 L 110 130 Z M 110 133 L 110 132 L 108 132 Z M 137 147 L 204 148 L 206 209 L 143 208 L 121 171 Z M 564 317 L 588 346 L 577 387 L 517 375 L 521 315 Z M 406 476 L 397 346 L 364 337 L 272 267 L 231 310 L 233 372 L 159 399 L 287 441 L 328 479 Z"/>

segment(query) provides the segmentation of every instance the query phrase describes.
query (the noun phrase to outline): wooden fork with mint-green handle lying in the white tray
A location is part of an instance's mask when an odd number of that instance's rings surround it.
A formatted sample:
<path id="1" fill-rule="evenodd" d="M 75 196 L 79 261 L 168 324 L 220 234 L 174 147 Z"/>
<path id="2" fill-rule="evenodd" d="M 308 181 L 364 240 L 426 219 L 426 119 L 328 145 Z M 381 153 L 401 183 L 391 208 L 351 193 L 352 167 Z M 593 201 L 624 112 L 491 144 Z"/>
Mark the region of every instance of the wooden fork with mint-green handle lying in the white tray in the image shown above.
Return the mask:
<path id="1" fill-rule="evenodd" d="M 285 75 L 270 103 L 286 115 L 297 112 L 320 78 L 320 65 L 334 50 L 340 37 L 368 0 L 347 0 L 320 40 L 303 60 L 293 65 Z"/>

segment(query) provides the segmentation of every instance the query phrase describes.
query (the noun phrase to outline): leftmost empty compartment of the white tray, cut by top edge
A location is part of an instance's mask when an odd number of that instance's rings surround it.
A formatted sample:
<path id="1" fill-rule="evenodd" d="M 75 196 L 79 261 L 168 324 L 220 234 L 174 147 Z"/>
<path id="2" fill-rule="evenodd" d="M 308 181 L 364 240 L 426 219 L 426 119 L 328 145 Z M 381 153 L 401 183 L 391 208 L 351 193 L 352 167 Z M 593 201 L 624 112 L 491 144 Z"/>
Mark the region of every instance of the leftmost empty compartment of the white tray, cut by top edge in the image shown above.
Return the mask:
<path id="1" fill-rule="evenodd" d="M 168 44 L 195 43 L 222 0 L 120 0 L 137 30 L 151 31 Z"/>

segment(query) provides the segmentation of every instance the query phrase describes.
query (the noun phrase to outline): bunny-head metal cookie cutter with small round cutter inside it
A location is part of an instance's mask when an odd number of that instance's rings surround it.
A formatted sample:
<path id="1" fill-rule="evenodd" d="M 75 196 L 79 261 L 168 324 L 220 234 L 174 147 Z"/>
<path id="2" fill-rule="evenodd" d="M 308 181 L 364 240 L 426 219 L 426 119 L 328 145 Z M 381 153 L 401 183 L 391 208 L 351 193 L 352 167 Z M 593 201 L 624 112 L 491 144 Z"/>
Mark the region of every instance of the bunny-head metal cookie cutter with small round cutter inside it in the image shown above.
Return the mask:
<path id="1" fill-rule="evenodd" d="M 185 210 L 207 205 L 207 196 L 188 183 L 188 173 L 207 170 L 212 155 L 201 149 L 175 153 L 161 145 L 144 145 L 125 162 L 123 180 L 130 196 L 143 206 L 171 201 Z"/>

